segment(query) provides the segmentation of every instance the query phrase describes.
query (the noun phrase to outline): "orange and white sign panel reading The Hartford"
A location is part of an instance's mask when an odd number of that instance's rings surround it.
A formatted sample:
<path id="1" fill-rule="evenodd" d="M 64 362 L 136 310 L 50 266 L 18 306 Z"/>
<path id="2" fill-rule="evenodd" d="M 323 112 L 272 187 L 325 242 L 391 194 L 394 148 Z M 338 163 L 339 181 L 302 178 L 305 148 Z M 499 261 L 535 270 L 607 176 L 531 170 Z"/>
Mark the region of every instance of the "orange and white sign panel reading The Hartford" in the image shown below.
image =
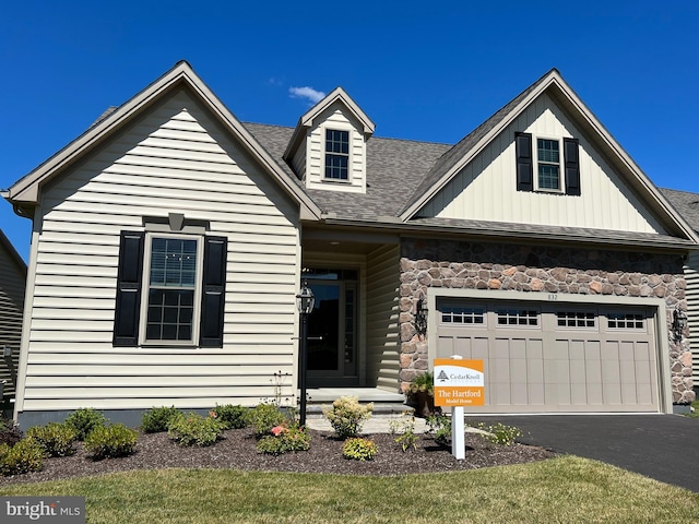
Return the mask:
<path id="1" fill-rule="evenodd" d="M 436 406 L 483 406 L 485 374 L 483 360 L 435 359 Z"/>

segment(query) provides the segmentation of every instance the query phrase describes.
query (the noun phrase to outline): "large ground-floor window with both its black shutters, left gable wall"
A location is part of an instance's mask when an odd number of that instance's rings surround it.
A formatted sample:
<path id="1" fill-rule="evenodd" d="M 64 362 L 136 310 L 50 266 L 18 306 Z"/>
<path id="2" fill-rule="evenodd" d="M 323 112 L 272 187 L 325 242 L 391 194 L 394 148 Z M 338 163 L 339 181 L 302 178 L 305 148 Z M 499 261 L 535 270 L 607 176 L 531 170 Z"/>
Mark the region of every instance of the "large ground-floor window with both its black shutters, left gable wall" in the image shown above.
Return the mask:
<path id="1" fill-rule="evenodd" d="M 115 346 L 223 345 L 225 237 L 122 231 Z"/>

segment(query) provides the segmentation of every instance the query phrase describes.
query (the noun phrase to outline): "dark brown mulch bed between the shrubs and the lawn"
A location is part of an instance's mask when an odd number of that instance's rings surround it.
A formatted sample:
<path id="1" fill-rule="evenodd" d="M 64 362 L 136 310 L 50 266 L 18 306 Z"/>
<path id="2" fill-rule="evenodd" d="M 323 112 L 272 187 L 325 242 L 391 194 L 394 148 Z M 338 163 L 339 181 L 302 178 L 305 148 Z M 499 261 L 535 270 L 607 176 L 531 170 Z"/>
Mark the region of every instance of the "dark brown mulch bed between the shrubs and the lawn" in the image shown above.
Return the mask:
<path id="1" fill-rule="evenodd" d="M 466 433 L 466 458 L 458 461 L 451 450 L 438 446 L 428 434 L 420 434 L 417 449 L 403 452 L 391 434 L 364 436 L 379 448 L 374 461 L 359 462 L 342 456 L 343 441 L 334 433 L 311 430 L 309 451 L 272 456 L 258 453 L 251 429 L 224 432 L 223 440 L 209 448 L 182 448 L 167 433 L 140 433 L 137 452 L 120 458 L 92 460 L 76 443 L 72 456 L 47 458 L 36 473 L 1 477 L 0 486 L 86 477 L 131 469 L 216 468 L 293 473 L 332 473 L 343 475 L 400 475 L 438 473 L 503 466 L 542 461 L 555 455 L 543 448 L 516 443 L 491 444 L 475 433 Z"/>

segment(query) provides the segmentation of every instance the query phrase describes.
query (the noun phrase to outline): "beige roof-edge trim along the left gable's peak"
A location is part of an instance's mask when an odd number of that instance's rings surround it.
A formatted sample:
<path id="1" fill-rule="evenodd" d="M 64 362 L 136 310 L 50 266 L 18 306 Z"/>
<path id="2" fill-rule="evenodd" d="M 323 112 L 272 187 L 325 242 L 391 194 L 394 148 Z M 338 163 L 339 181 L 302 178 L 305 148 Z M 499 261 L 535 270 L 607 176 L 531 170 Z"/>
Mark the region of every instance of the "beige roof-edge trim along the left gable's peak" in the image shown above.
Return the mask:
<path id="1" fill-rule="evenodd" d="M 66 172 L 69 166 L 74 165 L 75 162 L 80 160 L 108 136 L 123 129 L 126 124 L 133 121 L 147 107 L 151 107 L 155 100 L 162 99 L 173 90 L 179 87 L 186 87 L 192 92 L 215 115 L 224 128 L 236 136 L 242 147 L 276 179 L 287 194 L 299 203 L 301 217 L 319 217 L 320 210 L 295 182 L 295 177 L 289 177 L 280 167 L 279 163 L 270 157 L 248 130 L 194 73 L 189 63 L 185 61 L 176 63 L 167 73 L 116 110 L 111 112 L 108 112 L 109 110 L 105 111 L 87 131 L 16 181 L 3 195 L 15 205 L 15 209 L 32 207 L 38 201 L 40 186 Z"/>

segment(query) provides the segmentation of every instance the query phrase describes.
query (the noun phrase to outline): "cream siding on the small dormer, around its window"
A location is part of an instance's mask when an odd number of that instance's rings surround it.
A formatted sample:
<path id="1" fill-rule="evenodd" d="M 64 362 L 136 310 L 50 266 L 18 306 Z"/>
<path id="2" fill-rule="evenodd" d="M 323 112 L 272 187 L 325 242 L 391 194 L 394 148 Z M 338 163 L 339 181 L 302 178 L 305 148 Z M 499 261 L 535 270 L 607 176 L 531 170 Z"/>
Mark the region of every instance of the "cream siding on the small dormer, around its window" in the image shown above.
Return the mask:
<path id="1" fill-rule="evenodd" d="M 332 104 L 315 121 L 306 140 L 306 187 L 334 191 L 366 192 L 366 143 L 359 123 L 343 112 L 341 104 Z M 325 180 L 325 130 L 350 131 L 348 181 Z M 300 172 L 300 171 L 297 171 Z"/>

